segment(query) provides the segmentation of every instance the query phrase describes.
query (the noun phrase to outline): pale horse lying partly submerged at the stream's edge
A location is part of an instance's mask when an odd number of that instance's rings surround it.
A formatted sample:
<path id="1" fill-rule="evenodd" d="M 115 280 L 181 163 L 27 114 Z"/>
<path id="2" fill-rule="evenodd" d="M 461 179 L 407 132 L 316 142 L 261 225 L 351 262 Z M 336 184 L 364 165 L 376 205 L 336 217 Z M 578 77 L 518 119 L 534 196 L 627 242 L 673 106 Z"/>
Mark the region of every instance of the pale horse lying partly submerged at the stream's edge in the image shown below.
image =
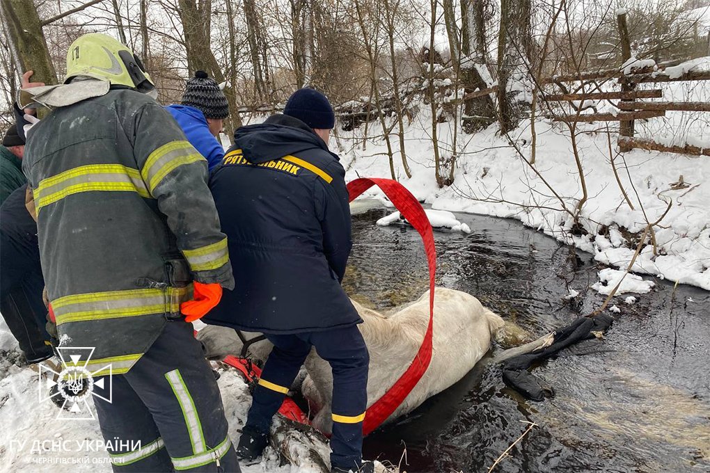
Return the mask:
<path id="1" fill-rule="evenodd" d="M 363 319 L 358 327 L 370 352 L 367 384 L 368 406 L 381 398 L 399 379 L 419 351 L 429 323 L 429 291 L 411 304 L 378 313 L 352 301 Z M 503 336 L 506 323 L 470 294 L 437 287 L 434 298 L 432 359 L 427 371 L 385 423 L 410 413 L 424 401 L 463 378 L 491 348 L 491 341 Z M 258 333 L 243 333 L 251 340 Z M 244 344 L 231 328 L 208 325 L 197 338 L 209 359 L 239 355 Z M 552 343 L 548 334 L 520 347 L 504 350 L 494 361 L 531 352 Z M 249 346 L 249 356 L 266 360 L 271 352 L 267 340 Z M 312 425 L 329 433 L 332 428 L 333 379 L 330 366 L 312 350 L 305 362 L 307 375 L 301 391 L 315 412 Z"/>

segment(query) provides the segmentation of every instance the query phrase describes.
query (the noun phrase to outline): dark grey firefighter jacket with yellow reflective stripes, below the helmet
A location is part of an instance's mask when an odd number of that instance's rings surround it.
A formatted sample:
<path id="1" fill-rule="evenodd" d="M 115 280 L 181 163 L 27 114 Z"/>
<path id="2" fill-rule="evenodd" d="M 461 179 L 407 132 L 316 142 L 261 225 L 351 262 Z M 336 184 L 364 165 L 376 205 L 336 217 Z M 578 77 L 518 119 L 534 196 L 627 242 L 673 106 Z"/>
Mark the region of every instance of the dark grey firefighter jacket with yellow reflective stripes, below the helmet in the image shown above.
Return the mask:
<path id="1" fill-rule="evenodd" d="M 193 279 L 234 286 L 207 161 L 150 97 L 111 89 L 56 108 L 25 151 L 60 346 L 94 348 L 87 369 L 127 372 Z"/>

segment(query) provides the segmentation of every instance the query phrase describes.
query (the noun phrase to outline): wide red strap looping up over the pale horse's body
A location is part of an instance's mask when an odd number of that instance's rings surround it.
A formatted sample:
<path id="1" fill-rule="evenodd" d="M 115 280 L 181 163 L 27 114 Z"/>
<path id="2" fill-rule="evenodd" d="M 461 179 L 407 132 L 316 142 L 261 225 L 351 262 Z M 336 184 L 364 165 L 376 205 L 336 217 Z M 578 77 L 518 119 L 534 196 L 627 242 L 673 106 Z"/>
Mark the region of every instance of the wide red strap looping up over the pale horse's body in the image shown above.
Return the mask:
<path id="1" fill-rule="evenodd" d="M 424 373 L 429 367 L 432 360 L 432 335 L 434 324 L 434 283 L 437 270 L 437 252 L 434 245 L 434 233 L 432 225 L 427 218 L 427 213 L 422 208 L 421 204 L 410 191 L 399 182 L 391 179 L 355 179 L 347 184 L 347 189 L 350 194 L 350 201 L 356 199 L 357 196 L 364 191 L 377 185 L 382 189 L 386 196 L 390 199 L 395 208 L 400 211 L 402 216 L 419 232 L 424 241 L 424 250 L 427 253 L 427 262 L 429 263 L 429 325 L 427 332 L 422 340 L 422 345 L 419 352 L 412 360 L 412 364 L 402 374 L 400 379 L 372 406 L 367 410 L 365 421 L 362 426 L 363 433 L 367 435 L 378 428 L 392 413 L 403 403 L 407 396 L 412 392 L 414 386 L 417 385 Z"/>

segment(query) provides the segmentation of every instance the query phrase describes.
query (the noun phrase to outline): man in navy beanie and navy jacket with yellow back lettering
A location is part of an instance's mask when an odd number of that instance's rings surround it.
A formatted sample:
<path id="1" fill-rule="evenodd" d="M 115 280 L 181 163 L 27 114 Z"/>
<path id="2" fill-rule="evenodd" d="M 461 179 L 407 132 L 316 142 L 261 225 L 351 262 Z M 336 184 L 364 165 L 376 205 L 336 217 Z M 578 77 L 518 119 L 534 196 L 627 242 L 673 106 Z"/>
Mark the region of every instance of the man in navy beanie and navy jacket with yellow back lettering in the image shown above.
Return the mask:
<path id="1" fill-rule="evenodd" d="M 361 318 L 340 286 L 351 248 L 345 171 L 327 140 L 328 100 L 300 89 L 283 115 L 239 128 L 210 179 L 236 286 L 203 320 L 262 332 L 273 345 L 254 391 L 238 455 L 254 460 L 311 347 L 333 371 L 334 472 L 362 463 L 368 352 Z"/>

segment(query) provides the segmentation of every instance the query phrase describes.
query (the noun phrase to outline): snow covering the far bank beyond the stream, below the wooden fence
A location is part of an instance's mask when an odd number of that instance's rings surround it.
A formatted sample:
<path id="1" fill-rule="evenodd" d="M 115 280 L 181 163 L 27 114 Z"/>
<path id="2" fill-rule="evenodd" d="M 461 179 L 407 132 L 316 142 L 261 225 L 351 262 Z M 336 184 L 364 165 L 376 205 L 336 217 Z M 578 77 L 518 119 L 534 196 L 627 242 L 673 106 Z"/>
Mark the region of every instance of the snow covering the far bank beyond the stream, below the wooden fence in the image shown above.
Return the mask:
<path id="1" fill-rule="evenodd" d="M 710 84 L 679 82 L 652 87 L 663 87 L 673 100 L 710 101 Z M 454 184 L 439 189 L 431 123 L 429 107 L 420 106 L 405 128 L 411 178 L 406 177 L 400 160 L 398 138 L 391 135 L 396 177 L 420 201 L 436 210 L 516 218 L 620 269 L 626 269 L 633 259 L 638 238 L 648 222 L 660 218 L 671 204 L 660 227 L 655 227 L 656 252 L 651 245 L 644 247 L 632 271 L 710 290 L 709 157 L 645 150 L 617 155 L 612 124 L 611 156 L 615 158 L 617 179 L 611 166 L 606 123 L 580 124 L 584 133 L 577 135 L 577 148 L 588 199 L 579 213 L 579 226 L 573 228 L 570 212 L 574 213 L 583 192 L 566 126 L 547 119 L 535 123 L 534 168 L 527 163 L 532 154 L 529 120 L 510 134 L 513 143 L 497 134 L 497 126 L 475 135 L 463 134 L 459 129 Z M 670 112 L 666 118 L 637 123 L 642 137 L 674 144 L 694 140 L 710 145 L 710 113 Z M 364 127 L 337 130 L 337 138 L 331 139 L 332 148 L 339 148 L 346 168 L 346 182 L 358 177 L 391 177 L 380 124 L 368 124 L 368 137 L 377 138 L 364 141 L 363 133 Z M 437 136 L 442 159 L 446 159 L 453 148 L 451 123 L 439 123 Z M 387 203 L 376 188 L 366 196 Z M 474 233 L 476 230 L 471 228 Z"/>

